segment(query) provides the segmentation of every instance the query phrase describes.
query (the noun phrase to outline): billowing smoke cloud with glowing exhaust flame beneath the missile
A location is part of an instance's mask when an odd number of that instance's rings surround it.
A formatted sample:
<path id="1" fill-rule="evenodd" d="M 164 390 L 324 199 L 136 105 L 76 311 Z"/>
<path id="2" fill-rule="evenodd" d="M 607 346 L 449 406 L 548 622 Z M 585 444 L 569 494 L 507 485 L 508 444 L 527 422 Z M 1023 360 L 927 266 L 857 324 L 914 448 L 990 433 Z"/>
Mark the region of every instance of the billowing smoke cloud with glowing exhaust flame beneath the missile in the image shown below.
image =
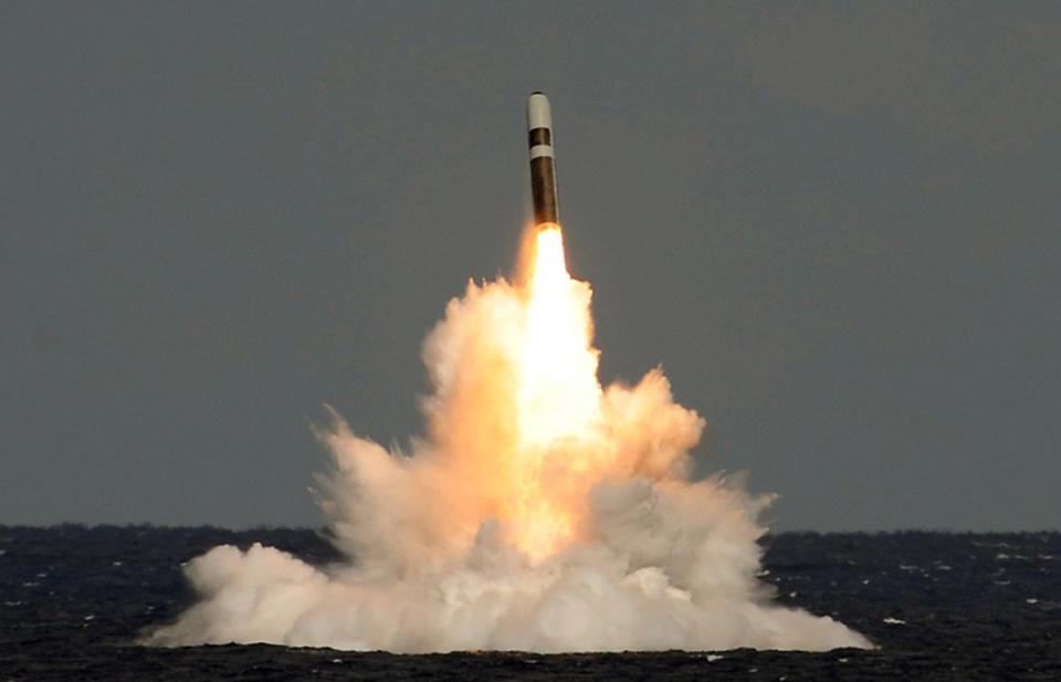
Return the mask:
<path id="1" fill-rule="evenodd" d="M 554 234 L 555 233 L 555 234 Z M 190 562 L 199 601 L 151 644 L 351 650 L 869 647 L 770 602 L 770 497 L 689 480 L 704 421 L 660 370 L 601 388 L 590 290 L 558 230 L 527 282 L 469 284 L 424 344 L 426 436 L 388 452 L 335 416 L 321 506 L 345 563 L 254 545 Z"/>

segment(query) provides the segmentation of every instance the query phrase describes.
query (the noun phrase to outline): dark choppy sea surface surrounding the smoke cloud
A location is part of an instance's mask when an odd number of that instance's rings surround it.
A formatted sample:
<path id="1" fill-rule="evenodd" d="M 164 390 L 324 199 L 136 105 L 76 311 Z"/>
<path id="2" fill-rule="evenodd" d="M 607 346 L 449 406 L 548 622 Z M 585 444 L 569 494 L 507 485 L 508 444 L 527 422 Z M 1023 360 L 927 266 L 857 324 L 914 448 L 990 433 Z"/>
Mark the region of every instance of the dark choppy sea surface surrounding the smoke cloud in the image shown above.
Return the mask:
<path id="1" fill-rule="evenodd" d="M 0 682 L 9 680 L 1061 681 L 1061 534 L 810 534 L 764 539 L 778 600 L 875 651 L 396 655 L 272 646 L 147 649 L 191 600 L 180 564 L 261 542 L 311 563 L 313 531 L 0 526 Z"/>

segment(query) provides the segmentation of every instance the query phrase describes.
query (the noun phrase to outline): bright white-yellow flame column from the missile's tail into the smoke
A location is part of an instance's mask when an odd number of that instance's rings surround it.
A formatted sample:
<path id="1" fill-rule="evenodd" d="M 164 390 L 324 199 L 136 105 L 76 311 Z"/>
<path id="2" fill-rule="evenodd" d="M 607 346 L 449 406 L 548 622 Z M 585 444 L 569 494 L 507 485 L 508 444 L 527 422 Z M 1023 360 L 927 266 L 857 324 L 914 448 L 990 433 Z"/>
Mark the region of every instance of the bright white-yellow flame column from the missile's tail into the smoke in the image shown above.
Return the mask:
<path id="1" fill-rule="evenodd" d="M 576 510 L 556 479 L 593 464 L 580 459 L 587 449 L 578 443 L 591 438 L 600 421 L 590 291 L 567 273 L 558 224 L 537 228 L 526 293 L 508 521 L 516 544 L 538 559 L 571 539 Z"/>

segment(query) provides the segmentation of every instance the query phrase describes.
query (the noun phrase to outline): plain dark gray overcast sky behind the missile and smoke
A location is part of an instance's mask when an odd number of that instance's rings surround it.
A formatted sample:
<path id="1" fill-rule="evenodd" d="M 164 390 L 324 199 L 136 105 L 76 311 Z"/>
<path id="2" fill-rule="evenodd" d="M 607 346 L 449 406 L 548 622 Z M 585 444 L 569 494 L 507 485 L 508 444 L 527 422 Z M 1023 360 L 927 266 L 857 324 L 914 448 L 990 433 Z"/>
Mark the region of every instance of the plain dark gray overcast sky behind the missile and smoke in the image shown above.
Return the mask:
<path id="1" fill-rule="evenodd" d="M 307 525 L 420 429 L 554 106 L 602 378 L 778 528 L 1061 518 L 1061 4 L 0 9 L 0 523 Z"/>

